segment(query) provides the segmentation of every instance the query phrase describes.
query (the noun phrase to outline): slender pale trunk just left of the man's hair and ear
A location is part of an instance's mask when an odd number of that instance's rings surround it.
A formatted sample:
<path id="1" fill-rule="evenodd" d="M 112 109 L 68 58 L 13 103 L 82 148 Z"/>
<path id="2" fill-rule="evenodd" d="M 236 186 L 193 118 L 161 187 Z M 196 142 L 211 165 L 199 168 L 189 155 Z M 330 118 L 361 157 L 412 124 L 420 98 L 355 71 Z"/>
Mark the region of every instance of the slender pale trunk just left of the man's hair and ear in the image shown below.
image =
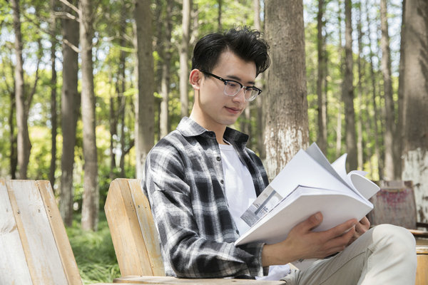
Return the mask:
<path id="1" fill-rule="evenodd" d="M 181 117 L 189 113 L 189 71 L 188 71 L 188 53 L 190 41 L 190 6 L 191 0 L 183 0 L 183 38 L 180 46 L 180 104 Z"/>

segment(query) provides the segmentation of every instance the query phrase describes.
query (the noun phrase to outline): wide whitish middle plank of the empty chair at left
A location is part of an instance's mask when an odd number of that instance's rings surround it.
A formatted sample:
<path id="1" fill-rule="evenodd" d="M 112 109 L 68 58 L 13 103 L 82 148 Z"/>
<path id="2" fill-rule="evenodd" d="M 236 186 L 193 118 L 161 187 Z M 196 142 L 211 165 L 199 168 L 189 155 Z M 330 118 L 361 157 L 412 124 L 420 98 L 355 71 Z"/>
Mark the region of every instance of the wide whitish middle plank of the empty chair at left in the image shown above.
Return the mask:
<path id="1" fill-rule="evenodd" d="M 34 181 L 11 180 L 6 187 L 34 284 L 67 284 L 49 220 Z"/>

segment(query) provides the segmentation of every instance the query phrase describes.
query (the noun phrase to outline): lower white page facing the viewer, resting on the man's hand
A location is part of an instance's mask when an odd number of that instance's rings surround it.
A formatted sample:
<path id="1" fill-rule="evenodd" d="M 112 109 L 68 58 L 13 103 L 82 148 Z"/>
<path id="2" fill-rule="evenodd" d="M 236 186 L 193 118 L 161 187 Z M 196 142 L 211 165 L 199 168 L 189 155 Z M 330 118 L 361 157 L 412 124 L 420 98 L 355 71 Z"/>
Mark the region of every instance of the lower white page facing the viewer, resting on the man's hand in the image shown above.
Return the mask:
<path id="1" fill-rule="evenodd" d="M 353 192 L 349 193 L 351 195 L 330 190 L 298 187 L 290 195 L 290 201 L 283 201 L 266 214 L 248 232 L 245 232 L 235 242 L 235 245 L 249 242 L 267 244 L 281 242 L 296 224 L 305 221 L 316 212 L 322 212 L 323 220 L 320 226 L 314 229 L 315 231 L 331 229 L 349 219 L 360 220 L 370 212 L 373 205 L 368 201 L 355 199 Z"/>

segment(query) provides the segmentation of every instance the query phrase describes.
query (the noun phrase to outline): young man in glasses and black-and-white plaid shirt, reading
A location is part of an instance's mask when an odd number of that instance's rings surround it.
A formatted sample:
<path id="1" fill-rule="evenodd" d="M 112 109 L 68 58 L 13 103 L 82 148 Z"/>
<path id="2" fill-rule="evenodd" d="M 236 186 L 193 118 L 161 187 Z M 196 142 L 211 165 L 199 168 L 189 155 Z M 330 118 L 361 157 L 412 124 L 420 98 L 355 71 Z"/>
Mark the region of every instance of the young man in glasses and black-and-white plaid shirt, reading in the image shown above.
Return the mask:
<path id="1" fill-rule="evenodd" d="M 142 185 L 161 240 L 167 275 L 253 277 L 275 268 L 290 284 L 414 284 L 414 239 L 405 229 L 350 220 L 312 232 L 314 213 L 277 244 L 233 242 L 247 229 L 240 214 L 268 184 L 248 135 L 228 128 L 261 90 L 255 78 L 269 66 L 267 43 L 248 28 L 212 33 L 198 41 L 189 81 L 190 118 L 153 147 Z M 330 259 L 323 259 L 335 255 Z M 320 258 L 291 271 L 297 259 Z"/>

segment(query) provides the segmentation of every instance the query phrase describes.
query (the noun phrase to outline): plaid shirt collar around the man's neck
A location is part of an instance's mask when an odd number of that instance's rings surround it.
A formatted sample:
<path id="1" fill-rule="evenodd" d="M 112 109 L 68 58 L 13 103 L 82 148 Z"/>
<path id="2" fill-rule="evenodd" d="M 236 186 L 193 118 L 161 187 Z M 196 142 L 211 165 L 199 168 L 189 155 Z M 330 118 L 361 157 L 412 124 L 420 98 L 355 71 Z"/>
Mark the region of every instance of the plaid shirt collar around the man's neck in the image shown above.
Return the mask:
<path id="1" fill-rule="evenodd" d="M 198 135 L 206 134 L 211 138 L 215 138 L 213 132 L 206 130 L 201 125 L 196 123 L 194 120 L 184 117 L 180 120 L 177 130 L 185 137 L 194 137 Z M 248 141 L 248 135 L 241 133 L 238 130 L 233 128 L 226 127 L 225 134 L 223 135 L 224 139 L 228 142 L 236 142 L 238 144 L 246 144 Z"/>

